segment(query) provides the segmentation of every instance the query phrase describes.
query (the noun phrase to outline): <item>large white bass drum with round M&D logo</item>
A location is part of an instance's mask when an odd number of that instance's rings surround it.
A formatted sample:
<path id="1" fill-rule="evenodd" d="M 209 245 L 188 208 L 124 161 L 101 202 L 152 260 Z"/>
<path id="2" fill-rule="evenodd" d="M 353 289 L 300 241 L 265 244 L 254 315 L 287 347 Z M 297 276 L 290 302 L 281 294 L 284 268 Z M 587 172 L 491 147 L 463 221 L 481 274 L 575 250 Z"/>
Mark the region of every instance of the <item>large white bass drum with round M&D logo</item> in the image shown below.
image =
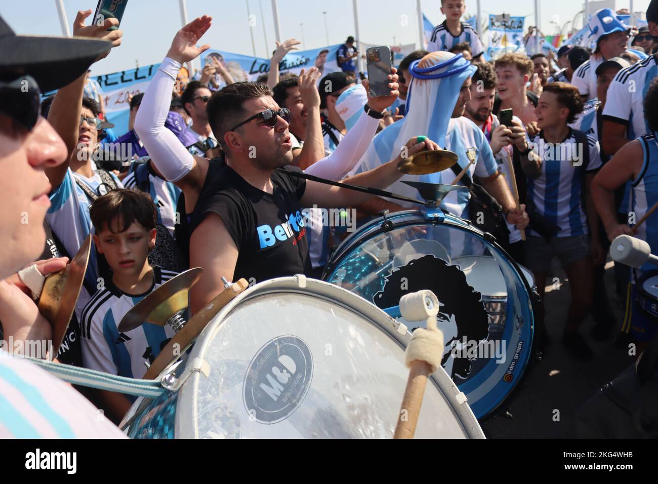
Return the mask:
<path id="1" fill-rule="evenodd" d="M 359 296 L 304 276 L 262 282 L 224 307 L 167 392 L 122 423 L 133 438 L 346 439 L 393 436 L 409 369 L 407 328 Z M 439 368 L 419 438 L 484 438 Z"/>

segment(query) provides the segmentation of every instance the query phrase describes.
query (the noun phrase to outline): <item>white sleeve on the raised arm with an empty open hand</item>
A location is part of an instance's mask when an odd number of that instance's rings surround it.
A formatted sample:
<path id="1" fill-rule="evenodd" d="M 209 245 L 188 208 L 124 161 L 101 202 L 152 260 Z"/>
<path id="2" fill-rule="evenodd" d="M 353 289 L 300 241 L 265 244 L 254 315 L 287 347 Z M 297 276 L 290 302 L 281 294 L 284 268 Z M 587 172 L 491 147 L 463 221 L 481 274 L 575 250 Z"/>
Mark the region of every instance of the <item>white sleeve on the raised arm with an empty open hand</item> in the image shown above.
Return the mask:
<path id="1" fill-rule="evenodd" d="M 171 182 L 188 175 L 194 165 L 191 153 L 164 127 L 178 70 L 180 63 L 164 58 L 149 82 L 135 118 L 135 132 L 157 169 Z"/>

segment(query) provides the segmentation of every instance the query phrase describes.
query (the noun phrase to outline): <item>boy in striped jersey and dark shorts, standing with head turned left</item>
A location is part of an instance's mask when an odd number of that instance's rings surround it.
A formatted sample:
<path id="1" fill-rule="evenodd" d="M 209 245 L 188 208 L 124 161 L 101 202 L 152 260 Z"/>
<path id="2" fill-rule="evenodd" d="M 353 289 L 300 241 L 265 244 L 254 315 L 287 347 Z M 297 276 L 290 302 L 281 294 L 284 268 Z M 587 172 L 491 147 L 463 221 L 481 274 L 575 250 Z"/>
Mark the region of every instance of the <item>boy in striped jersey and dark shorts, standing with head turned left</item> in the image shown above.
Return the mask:
<path id="1" fill-rule="evenodd" d="M 594 265 L 602 263 L 605 254 L 589 194 L 594 171 L 601 166 L 599 143 L 567 124 L 580 111 L 582 101 L 574 86 L 554 82 L 544 88 L 536 109 L 541 131 L 530 143 L 534 156 L 528 156 L 534 165 L 522 164 L 529 177 L 527 203 L 538 215 L 530 216 L 525 265 L 534 273 L 544 298 L 551 258 L 559 257 L 571 291 L 563 343 L 575 358 L 588 361 L 592 350 L 578 327 L 592 304 Z"/>

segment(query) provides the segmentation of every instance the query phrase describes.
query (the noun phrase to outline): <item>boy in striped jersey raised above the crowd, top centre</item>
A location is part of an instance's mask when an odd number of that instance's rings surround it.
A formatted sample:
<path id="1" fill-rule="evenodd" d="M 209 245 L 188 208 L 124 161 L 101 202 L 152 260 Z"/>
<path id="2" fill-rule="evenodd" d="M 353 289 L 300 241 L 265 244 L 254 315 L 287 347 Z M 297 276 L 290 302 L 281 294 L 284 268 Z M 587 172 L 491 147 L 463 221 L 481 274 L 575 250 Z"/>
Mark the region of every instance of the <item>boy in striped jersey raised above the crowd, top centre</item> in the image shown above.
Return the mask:
<path id="1" fill-rule="evenodd" d="M 484 47 L 478 32 L 470 24 L 461 22 L 465 11 L 466 3 L 463 0 L 441 0 L 441 13 L 445 15 L 445 20 L 434 27 L 432 37 L 427 43 L 428 51 L 449 51 L 455 45 L 467 42 L 473 56 L 471 62 L 482 62 Z"/>

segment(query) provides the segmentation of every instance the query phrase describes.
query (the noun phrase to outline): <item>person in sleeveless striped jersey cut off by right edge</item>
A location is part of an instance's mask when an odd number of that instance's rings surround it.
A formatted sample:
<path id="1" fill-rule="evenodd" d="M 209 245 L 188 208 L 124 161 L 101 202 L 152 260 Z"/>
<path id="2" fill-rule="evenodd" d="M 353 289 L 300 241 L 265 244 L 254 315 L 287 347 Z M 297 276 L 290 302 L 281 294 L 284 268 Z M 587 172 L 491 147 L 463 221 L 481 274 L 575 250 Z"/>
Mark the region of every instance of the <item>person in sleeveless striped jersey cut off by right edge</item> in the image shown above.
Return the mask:
<path id="1" fill-rule="evenodd" d="M 623 71 L 622 71 L 623 72 Z M 612 241 L 621 234 L 636 236 L 645 240 L 651 247 L 651 252 L 658 250 L 658 221 L 655 215 L 649 217 L 634 234 L 632 229 L 619 223 L 615 209 L 615 190 L 632 183 L 632 213 L 636 221 L 648 209 L 658 202 L 658 78 L 654 78 L 644 97 L 644 118 L 649 128 L 637 140 L 621 148 L 595 176 L 592 183 L 592 196 L 596 208 L 601 215 L 605 232 Z M 626 319 L 623 331 L 630 331 L 636 342 L 645 346 L 655 336 L 658 321 L 638 305 L 637 283 L 641 277 L 655 273 L 655 266 L 648 263 L 638 270 L 632 271 L 630 288 L 626 299 Z"/>

